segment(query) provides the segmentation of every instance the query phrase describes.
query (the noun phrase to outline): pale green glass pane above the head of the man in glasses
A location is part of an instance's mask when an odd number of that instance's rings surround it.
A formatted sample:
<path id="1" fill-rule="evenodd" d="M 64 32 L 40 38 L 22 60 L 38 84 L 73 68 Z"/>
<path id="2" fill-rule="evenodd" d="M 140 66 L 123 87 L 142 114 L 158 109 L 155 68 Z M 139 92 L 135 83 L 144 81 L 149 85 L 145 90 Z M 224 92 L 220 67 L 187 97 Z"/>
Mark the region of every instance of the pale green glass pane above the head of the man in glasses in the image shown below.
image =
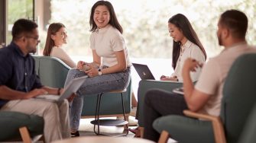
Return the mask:
<path id="1" fill-rule="evenodd" d="M 33 19 L 33 0 L 8 0 L 7 44 L 11 42 L 11 28 L 19 18 Z"/>

